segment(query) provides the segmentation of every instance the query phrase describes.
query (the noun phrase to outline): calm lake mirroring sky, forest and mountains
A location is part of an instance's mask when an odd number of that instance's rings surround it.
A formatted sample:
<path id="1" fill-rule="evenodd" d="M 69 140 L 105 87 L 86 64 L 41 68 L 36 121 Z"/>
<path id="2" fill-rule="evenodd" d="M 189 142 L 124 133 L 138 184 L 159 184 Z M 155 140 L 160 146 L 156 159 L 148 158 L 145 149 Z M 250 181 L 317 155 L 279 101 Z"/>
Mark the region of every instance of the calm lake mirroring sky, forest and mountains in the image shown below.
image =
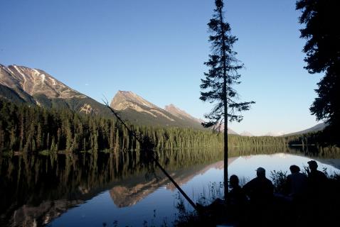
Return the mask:
<path id="1" fill-rule="evenodd" d="M 289 172 L 293 164 L 303 170 L 309 160 L 340 172 L 339 158 L 281 150 L 231 150 L 229 174 L 249 180 L 261 166 L 270 178 L 270 171 Z M 211 189 L 222 193 L 221 150 L 193 152 L 169 150 L 159 160 L 194 201 Z M 11 155 L 0 157 L 0 167 L 0 226 L 171 226 L 176 218 L 178 191 L 133 152 Z"/>

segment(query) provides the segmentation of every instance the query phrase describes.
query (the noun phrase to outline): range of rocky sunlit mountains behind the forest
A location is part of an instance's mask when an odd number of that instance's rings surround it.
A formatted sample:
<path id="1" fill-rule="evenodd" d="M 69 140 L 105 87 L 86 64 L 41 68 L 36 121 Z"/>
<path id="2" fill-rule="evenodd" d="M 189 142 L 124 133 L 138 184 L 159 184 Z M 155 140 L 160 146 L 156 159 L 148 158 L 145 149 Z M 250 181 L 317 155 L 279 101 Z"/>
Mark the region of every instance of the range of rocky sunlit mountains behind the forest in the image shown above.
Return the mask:
<path id="1" fill-rule="evenodd" d="M 0 64 L 0 99 L 47 108 L 70 109 L 84 114 L 112 116 L 107 106 L 75 91 L 51 74 L 18 65 Z M 133 92 L 118 91 L 110 106 L 118 111 L 124 120 L 137 125 L 203 129 L 201 126 L 203 120 L 194 118 L 174 104 L 169 104 L 162 109 Z M 304 131 L 285 135 L 319 131 L 324 127 L 324 123 L 319 123 Z M 238 135 L 230 128 L 228 128 L 228 134 Z M 253 136 L 249 132 L 243 132 L 240 135 Z M 267 133 L 267 135 L 280 136 L 281 134 Z"/>

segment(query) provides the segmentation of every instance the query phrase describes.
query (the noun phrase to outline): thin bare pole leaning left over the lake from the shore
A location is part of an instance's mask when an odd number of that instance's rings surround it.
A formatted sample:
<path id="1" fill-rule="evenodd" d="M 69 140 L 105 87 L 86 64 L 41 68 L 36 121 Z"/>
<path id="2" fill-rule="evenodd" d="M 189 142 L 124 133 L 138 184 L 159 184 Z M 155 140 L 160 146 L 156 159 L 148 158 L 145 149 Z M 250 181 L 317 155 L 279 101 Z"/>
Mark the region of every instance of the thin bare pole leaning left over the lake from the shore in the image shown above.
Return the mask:
<path id="1" fill-rule="evenodd" d="M 129 131 L 129 133 L 131 133 L 131 135 L 134 136 L 134 138 L 136 138 L 136 140 L 140 143 L 143 144 L 143 141 L 141 138 L 139 138 L 139 136 L 131 130 L 131 128 L 129 128 L 127 126 L 127 124 L 122 120 L 122 118 L 120 118 L 120 116 L 118 115 L 118 113 L 113 110 L 110 106 L 109 106 L 109 102 L 107 101 L 107 99 L 105 98 L 105 100 L 102 100 L 105 104 L 105 106 L 107 106 L 107 108 L 110 109 L 110 111 L 112 112 L 112 114 L 114 114 L 116 116 L 116 118 L 118 119 L 118 121 L 120 123 L 122 123 L 122 125 L 127 128 L 127 131 Z M 179 184 L 177 184 L 175 182 L 175 180 L 169 175 L 168 172 L 166 172 L 166 170 L 161 166 L 161 164 L 158 162 L 158 160 L 156 159 L 156 157 L 154 157 L 154 155 L 151 155 L 152 160 L 156 163 L 156 166 L 159 167 L 159 169 L 161 169 L 161 172 L 164 173 L 164 175 L 166 175 L 166 177 L 168 177 L 170 179 L 170 181 L 175 185 L 176 189 L 179 190 L 179 192 L 181 192 L 181 194 L 184 196 L 184 198 L 186 198 L 186 200 L 188 201 L 188 203 L 193 206 L 193 209 L 195 209 L 196 211 L 198 211 L 196 204 L 189 198 L 189 196 L 183 191 L 183 189 L 181 189 L 181 187 L 179 187 Z"/>

